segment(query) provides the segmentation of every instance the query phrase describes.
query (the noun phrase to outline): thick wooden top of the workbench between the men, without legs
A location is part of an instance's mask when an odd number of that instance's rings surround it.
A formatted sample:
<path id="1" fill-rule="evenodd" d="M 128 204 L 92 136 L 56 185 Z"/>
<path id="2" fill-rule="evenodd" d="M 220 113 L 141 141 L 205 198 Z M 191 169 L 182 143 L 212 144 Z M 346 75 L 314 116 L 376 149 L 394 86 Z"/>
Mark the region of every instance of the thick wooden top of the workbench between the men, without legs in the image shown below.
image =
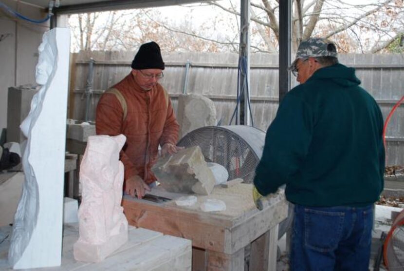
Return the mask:
<path id="1" fill-rule="evenodd" d="M 175 202 L 156 204 L 126 196 L 123 207 L 130 225 L 181 236 L 191 239 L 194 247 L 231 254 L 287 216 L 284 194 L 278 194 L 272 205 L 258 211 L 251 190 L 251 184 L 215 187 L 211 195 L 198 195 L 198 202 L 187 207 L 176 206 Z M 226 210 L 203 213 L 200 205 L 208 198 L 223 200 Z"/>

